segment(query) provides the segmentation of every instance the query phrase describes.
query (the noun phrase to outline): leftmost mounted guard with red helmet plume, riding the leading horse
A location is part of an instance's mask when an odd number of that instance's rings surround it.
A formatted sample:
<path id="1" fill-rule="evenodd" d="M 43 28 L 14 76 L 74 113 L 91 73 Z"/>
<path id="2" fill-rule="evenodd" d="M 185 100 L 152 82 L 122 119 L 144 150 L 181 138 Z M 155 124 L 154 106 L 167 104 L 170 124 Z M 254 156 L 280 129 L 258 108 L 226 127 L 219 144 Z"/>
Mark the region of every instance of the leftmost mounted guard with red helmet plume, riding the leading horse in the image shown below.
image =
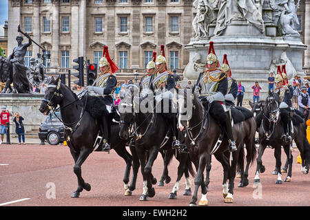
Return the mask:
<path id="1" fill-rule="evenodd" d="M 96 138 L 95 144 L 99 145 L 101 140 L 103 140 L 103 149 L 102 151 L 110 151 L 110 131 L 112 117 L 112 105 L 113 105 L 113 93 L 116 88 L 117 80 L 114 73 L 118 70 L 118 67 L 113 63 L 110 58 L 108 47 L 105 46 L 103 49 L 103 57 L 99 61 L 99 69 L 101 74 L 99 78 L 96 79 L 94 86 L 87 86 L 87 91 L 98 94 L 101 96 L 103 103 L 109 113 L 105 115 L 102 120 L 98 120 L 99 124 L 99 134 Z"/>

